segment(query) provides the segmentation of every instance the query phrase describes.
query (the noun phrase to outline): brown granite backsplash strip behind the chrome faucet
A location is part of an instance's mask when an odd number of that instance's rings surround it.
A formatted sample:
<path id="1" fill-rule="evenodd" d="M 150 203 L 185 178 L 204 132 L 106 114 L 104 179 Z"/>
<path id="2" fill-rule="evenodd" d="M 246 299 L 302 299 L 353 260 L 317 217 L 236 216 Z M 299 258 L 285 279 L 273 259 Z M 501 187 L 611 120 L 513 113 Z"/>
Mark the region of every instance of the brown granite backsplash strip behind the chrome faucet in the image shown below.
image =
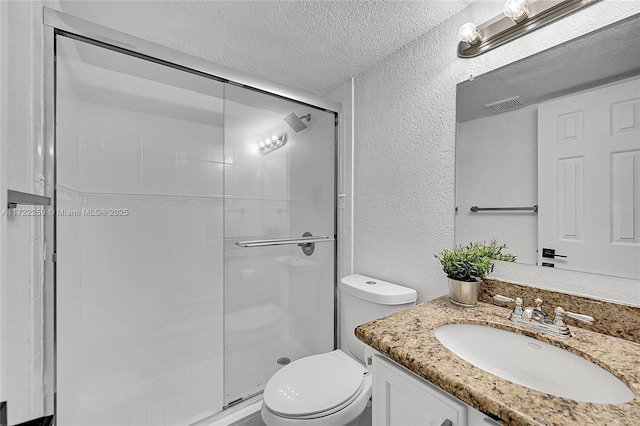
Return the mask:
<path id="1" fill-rule="evenodd" d="M 594 323 L 589 325 L 565 317 L 569 327 L 581 327 L 596 333 L 640 343 L 640 308 L 485 278 L 484 284 L 480 286 L 478 300 L 513 308 L 512 303 L 494 300 L 495 294 L 512 298 L 520 297 L 524 301 L 524 306 L 535 306 L 534 300 L 536 297 L 540 297 L 543 300 L 542 310 L 548 315 L 552 316 L 553 309 L 556 306 L 561 306 L 566 311 L 591 315 L 595 319 Z"/>

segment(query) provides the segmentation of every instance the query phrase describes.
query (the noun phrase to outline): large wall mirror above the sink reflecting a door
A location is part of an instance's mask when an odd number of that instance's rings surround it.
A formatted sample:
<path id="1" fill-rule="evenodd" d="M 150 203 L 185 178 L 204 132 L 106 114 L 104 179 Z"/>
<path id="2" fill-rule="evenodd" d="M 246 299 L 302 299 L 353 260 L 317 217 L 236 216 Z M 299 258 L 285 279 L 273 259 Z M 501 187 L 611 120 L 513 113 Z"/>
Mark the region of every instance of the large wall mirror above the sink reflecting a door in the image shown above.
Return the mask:
<path id="1" fill-rule="evenodd" d="M 640 278 L 639 34 L 635 15 L 458 84 L 456 244 Z"/>

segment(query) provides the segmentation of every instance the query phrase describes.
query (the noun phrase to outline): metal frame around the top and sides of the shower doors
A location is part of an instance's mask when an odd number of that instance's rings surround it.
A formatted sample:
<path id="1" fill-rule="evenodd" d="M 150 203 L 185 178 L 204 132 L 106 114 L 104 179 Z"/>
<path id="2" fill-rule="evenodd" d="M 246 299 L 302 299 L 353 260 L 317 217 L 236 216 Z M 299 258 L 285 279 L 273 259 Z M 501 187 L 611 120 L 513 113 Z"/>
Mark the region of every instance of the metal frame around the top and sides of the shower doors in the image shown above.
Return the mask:
<path id="1" fill-rule="evenodd" d="M 334 115 L 334 253 L 333 253 L 333 348 L 338 347 L 338 179 L 339 179 L 339 115 L 340 106 L 327 99 L 279 86 L 250 75 L 211 63 L 165 46 L 149 42 L 74 16 L 43 7 L 43 81 L 42 115 L 44 128 L 43 170 L 45 193 L 51 194 L 51 207 L 57 208 L 56 195 L 56 37 L 68 37 L 121 54 L 168 66 L 222 83 L 275 96 Z M 57 408 L 57 268 L 56 216 L 44 219 L 44 412 Z M 225 266 L 226 268 L 226 266 Z M 47 338 L 52 336 L 52 339 Z M 52 346 L 51 346 L 52 343 Z M 223 361 L 224 362 L 224 361 Z M 214 407 L 212 407 L 214 408 Z M 222 411 L 223 407 L 220 407 Z M 55 418 L 55 417 L 54 417 Z"/>

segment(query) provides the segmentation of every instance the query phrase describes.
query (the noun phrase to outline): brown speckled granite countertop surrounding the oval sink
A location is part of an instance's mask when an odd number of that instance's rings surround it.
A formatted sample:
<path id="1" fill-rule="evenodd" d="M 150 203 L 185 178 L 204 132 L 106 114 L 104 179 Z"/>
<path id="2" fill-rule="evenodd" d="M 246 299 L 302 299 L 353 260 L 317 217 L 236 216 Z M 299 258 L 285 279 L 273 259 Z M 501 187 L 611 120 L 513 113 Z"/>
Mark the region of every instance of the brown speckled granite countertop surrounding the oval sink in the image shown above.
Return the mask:
<path id="1" fill-rule="evenodd" d="M 640 344 L 571 327 L 561 339 L 510 322 L 507 308 L 453 305 L 448 296 L 356 328 L 358 339 L 472 407 L 506 425 L 637 425 L 640 423 Z M 566 400 L 501 379 L 459 358 L 435 337 L 449 323 L 488 325 L 534 337 L 580 355 L 622 380 L 635 394 L 625 404 Z"/>

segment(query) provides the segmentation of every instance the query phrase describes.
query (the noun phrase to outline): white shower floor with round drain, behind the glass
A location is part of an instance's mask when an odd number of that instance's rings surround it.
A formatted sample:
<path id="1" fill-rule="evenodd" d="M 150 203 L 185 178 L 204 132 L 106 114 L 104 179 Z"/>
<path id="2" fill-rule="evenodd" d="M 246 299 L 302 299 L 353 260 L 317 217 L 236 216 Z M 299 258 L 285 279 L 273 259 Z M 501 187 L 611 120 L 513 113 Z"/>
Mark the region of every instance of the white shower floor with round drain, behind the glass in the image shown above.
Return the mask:
<path id="1" fill-rule="evenodd" d="M 228 354 L 227 392 L 235 398 L 260 393 L 283 367 L 279 358 L 293 361 L 308 355 L 311 353 L 291 337 Z M 73 414 L 67 407 L 63 410 L 66 416 L 59 418 L 65 426 L 261 425 L 262 395 L 221 411 L 222 383 L 223 361 L 214 358 L 108 393 L 86 395 L 73 407 Z"/>

